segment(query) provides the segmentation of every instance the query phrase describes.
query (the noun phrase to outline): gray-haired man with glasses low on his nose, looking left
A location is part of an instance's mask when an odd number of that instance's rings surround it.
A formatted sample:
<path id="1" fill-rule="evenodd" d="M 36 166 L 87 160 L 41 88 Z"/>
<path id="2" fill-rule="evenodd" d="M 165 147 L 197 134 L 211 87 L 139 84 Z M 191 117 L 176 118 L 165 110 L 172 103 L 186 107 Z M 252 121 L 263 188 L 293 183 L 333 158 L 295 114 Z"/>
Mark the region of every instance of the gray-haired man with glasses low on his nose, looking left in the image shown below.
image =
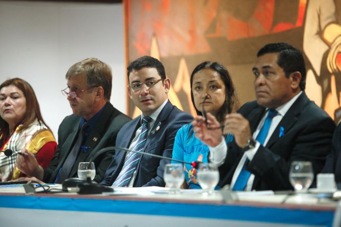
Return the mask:
<path id="1" fill-rule="evenodd" d="M 73 114 L 58 129 L 58 149 L 47 169 L 38 165 L 25 149 L 16 166 L 26 175 L 49 183 L 62 183 L 76 177 L 79 162 L 87 162 L 105 147 L 115 146 L 121 127 L 130 120 L 110 104 L 112 73 L 108 65 L 96 58 L 87 58 L 71 66 L 66 73 L 67 97 Z M 100 182 L 110 164 L 113 152 L 95 157 L 96 175 Z"/>

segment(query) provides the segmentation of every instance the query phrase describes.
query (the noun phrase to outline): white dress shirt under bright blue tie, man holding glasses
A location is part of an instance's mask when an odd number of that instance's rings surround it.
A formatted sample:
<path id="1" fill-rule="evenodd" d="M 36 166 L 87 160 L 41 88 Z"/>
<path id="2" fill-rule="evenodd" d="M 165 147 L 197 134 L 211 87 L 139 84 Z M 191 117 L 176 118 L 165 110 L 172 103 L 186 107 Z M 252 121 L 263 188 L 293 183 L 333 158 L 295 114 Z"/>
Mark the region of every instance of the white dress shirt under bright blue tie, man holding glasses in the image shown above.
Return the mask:
<path id="1" fill-rule="evenodd" d="M 267 137 L 266 137 L 266 139 L 264 141 L 264 144 L 263 144 L 264 147 L 267 145 L 267 142 L 269 141 L 272 133 L 275 131 L 276 127 L 278 126 L 278 123 L 283 119 L 283 116 L 288 112 L 290 107 L 294 104 L 294 102 L 296 101 L 296 99 L 298 98 L 298 96 L 301 93 L 302 93 L 302 91 L 299 92 L 297 95 L 295 95 L 292 99 L 290 99 L 286 104 L 276 108 L 276 111 L 278 113 L 277 113 L 276 116 L 274 116 L 272 118 L 268 135 L 267 135 Z M 264 125 L 264 122 L 265 122 L 265 119 L 266 119 L 266 117 L 268 116 L 268 113 L 269 113 L 268 110 L 269 109 L 266 109 L 265 114 L 264 114 L 262 120 L 259 121 L 258 126 L 257 126 L 256 130 L 254 131 L 254 133 L 252 135 L 253 139 L 257 138 L 257 135 L 258 135 L 260 129 L 262 129 L 262 127 Z M 226 145 L 225 140 L 223 140 L 222 143 L 220 143 L 217 147 L 210 148 L 210 152 L 211 153 L 219 153 L 219 152 L 224 153 L 225 152 L 225 154 L 227 154 L 227 152 L 228 152 L 227 150 L 228 149 L 227 149 L 227 145 Z M 259 146 L 260 146 L 260 143 L 258 141 L 256 141 L 256 146 L 253 149 L 250 149 L 250 150 L 244 152 L 242 159 L 240 159 L 240 161 L 238 163 L 238 166 L 237 166 L 236 170 L 234 171 L 234 174 L 233 174 L 233 177 L 232 177 L 232 181 L 231 181 L 231 185 L 230 185 L 231 189 L 233 188 L 234 183 L 237 180 L 240 171 L 242 171 L 242 169 L 243 169 L 243 166 L 244 166 L 244 163 L 246 161 L 246 158 L 249 158 L 249 160 L 252 161 L 254 155 L 258 151 Z M 250 177 L 249 177 L 249 180 L 247 182 L 247 185 L 245 187 L 245 191 L 251 191 L 253 180 L 254 180 L 254 175 L 251 174 Z"/>

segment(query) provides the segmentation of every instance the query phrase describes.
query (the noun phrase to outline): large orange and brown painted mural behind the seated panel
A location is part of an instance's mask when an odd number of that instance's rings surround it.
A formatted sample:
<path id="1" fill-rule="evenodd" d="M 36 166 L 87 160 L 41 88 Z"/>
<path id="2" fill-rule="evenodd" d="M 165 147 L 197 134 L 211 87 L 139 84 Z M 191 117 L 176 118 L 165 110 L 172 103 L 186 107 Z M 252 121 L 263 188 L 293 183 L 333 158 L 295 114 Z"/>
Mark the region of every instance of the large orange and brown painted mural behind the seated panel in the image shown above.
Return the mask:
<path id="1" fill-rule="evenodd" d="M 162 61 L 178 108 L 195 114 L 190 74 L 204 60 L 230 71 L 241 104 L 255 98 L 252 66 L 267 43 L 303 51 L 308 96 L 341 119 L 341 0 L 127 0 L 128 62 Z M 140 112 L 129 102 L 131 116 Z"/>

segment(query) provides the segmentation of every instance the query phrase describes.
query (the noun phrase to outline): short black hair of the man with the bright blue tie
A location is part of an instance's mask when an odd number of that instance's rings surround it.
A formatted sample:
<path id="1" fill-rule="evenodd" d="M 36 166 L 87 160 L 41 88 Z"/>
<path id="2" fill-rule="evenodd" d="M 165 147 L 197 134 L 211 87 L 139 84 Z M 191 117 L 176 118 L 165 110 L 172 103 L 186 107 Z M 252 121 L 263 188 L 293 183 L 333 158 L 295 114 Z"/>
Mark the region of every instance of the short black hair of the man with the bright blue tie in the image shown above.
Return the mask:
<path id="1" fill-rule="evenodd" d="M 302 52 L 287 43 L 272 43 L 262 47 L 258 51 L 257 57 L 260 57 L 267 53 L 279 53 L 277 65 L 284 70 L 287 77 L 289 77 L 290 73 L 296 71 L 302 74 L 299 88 L 304 91 L 306 88 L 307 73 Z"/>

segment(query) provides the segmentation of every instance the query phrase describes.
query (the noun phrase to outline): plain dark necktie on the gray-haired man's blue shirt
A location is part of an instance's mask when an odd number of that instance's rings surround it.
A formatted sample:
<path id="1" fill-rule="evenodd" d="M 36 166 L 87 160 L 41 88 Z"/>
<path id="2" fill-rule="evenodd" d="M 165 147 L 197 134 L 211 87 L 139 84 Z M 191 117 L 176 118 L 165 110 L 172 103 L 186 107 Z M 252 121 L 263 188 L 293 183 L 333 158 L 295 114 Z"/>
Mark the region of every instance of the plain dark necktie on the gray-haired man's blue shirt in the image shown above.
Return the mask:
<path id="1" fill-rule="evenodd" d="M 84 139 L 84 132 L 88 127 L 89 127 L 88 123 L 84 122 L 81 130 L 79 130 L 77 140 L 74 143 L 71 152 L 69 153 L 68 157 L 66 158 L 62 166 L 61 173 L 59 174 L 59 176 L 57 175 L 58 177 L 57 183 L 63 183 L 63 181 L 69 177 L 72 167 L 74 165 L 74 162 L 76 161 L 76 158 L 79 154 L 79 150 L 81 150 L 81 146 L 82 146 L 83 139 Z"/>

